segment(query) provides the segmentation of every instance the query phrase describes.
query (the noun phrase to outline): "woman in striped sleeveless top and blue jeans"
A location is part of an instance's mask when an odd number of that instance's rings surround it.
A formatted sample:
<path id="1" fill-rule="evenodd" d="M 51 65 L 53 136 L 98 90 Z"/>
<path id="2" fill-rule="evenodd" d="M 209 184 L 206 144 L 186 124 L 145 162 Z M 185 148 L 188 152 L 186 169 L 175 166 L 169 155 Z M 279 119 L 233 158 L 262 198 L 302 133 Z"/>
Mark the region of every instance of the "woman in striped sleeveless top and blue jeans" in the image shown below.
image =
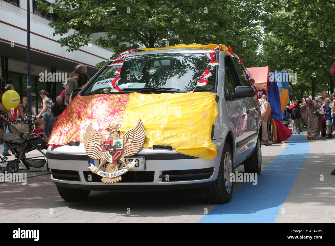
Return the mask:
<path id="1" fill-rule="evenodd" d="M 43 116 L 43 120 L 46 122 L 45 124 L 45 134 L 47 135 L 48 138 L 50 138 L 50 134 L 52 131 L 52 121 L 53 121 L 53 117 L 52 117 L 52 113 L 51 113 L 51 107 L 52 105 L 54 105 L 54 103 L 52 102 L 52 100 L 48 97 L 49 93 L 46 92 L 45 90 L 41 90 L 40 91 L 40 97 L 42 98 L 42 106 L 43 109 L 42 111 L 36 116 L 36 118 L 40 118 L 40 116 Z"/>

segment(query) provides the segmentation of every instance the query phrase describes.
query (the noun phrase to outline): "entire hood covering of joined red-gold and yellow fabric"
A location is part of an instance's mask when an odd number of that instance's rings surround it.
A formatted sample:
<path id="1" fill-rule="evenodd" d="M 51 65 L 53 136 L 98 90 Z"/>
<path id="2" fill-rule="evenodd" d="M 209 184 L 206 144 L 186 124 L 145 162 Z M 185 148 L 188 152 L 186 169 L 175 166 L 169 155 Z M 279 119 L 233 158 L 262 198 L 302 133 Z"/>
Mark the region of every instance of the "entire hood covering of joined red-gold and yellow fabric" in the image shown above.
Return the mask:
<path id="1" fill-rule="evenodd" d="M 210 92 L 78 95 L 57 120 L 48 144 L 83 142 L 90 123 L 106 137 L 109 125 L 121 124 L 122 136 L 141 118 L 143 148 L 172 146 L 179 153 L 211 159 L 216 156 L 211 131 L 217 114 L 215 94 Z"/>

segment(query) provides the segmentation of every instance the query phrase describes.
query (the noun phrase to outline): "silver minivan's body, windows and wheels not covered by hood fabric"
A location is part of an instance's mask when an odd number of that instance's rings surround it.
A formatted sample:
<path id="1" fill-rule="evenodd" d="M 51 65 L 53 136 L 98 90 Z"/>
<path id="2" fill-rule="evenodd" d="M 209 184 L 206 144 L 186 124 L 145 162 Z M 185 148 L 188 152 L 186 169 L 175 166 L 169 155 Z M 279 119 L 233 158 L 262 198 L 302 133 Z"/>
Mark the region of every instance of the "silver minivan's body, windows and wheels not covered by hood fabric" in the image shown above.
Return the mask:
<path id="1" fill-rule="evenodd" d="M 163 49 L 127 54 L 118 82 L 123 92 L 112 92 L 107 84 L 92 90 L 98 81 L 113 78 L 118 67 L 107 66 L 113 63 L 110 61 L 79 94 L 192 92 L 208 64 L 205 55 L 211 52 L 213 50 Z M 213 60 L 219 61 L 219 65 L 208 66 L 212 76 L 206 86 L 196 87 L 194 92 L 216 94 L 218 115 L 211 136 L 212 143 L 217 146 L 215 158 L 183 155 L 167 146 L 142 148 L 132 159 L 138 157 L 145 165 L 122 175 L 122 181 L 108 185 L 101 182 L 100 176 L 89 171 L 90 163 L 98 166 L 99 162 L 86 155 L 84 143 L 49 147 L 48 165 L 61 197 L 79 200 L 86 198 L 91 190 L 148 191 L 204 187 L 210 202 L 228 202 L 233 192 L 233 182 L 229 177 L 235 168 L 244 164 L 247 173 L 261 172 L 261 114 L 253 85 L 244 79 L 243 74 L 247 73 L 238 63 L 238 58 L 221 51 L 216 52 Z M 152 69 L 157 65 L 163 66 L 163 69 Z M 126 86 L 129 76 L 141 86 Z"/>

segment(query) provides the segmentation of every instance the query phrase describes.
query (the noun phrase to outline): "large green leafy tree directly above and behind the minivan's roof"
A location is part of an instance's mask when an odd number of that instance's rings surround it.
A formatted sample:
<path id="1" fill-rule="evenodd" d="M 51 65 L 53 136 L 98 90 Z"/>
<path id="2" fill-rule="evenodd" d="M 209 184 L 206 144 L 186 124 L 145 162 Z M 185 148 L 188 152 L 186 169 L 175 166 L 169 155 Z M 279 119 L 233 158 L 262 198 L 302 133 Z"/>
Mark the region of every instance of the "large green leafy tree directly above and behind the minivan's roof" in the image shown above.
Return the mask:
<path id="1" fill-rule="evenodd" d="M 92 41 L 95 30 L 105 32 L 93 40 L 119 54 L 129 48 L 156 48 L 177 44 L 225 44 L 245 62 L 257 61 L 261 41 L 257 1 L 124 1 L 76 0 L 49 3 L 38 8 L 59 17 L 49 25 L 63 37 L 61 46 L 74 51 Z M 64 36 L 71 29 L 74 33 Z M 251 66 L 253 64 L 248 64 Z"/>

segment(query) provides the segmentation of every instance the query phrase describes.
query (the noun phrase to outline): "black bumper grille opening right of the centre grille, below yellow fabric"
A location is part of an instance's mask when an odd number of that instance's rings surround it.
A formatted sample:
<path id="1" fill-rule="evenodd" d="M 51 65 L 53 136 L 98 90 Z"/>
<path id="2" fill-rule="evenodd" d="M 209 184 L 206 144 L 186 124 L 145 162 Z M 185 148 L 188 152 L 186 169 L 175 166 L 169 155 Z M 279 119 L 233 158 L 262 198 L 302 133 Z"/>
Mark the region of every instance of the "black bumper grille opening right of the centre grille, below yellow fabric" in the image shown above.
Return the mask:
<path id="1" fill-rule="evenodd" d="M 214 167 L 190 170 L 162 171 L 163 182 L 206 179 L 213 175 Z M 169 176 L 166 176 L 169 175 Z"/>

